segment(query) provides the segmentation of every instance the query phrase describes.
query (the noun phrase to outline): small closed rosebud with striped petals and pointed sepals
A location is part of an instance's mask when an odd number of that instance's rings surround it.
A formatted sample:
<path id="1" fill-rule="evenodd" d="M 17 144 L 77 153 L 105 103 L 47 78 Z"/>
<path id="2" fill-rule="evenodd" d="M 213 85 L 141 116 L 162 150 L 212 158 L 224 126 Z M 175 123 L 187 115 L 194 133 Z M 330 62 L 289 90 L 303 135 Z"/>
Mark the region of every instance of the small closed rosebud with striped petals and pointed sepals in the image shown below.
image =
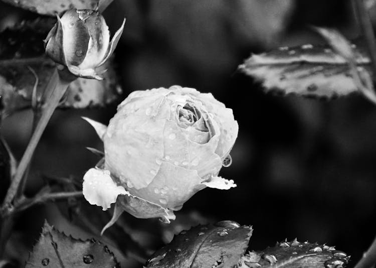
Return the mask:
<path id="1" fill-rule="evenodd" d="M 123 32 L 125 19 L 110 41 L 103 16 L 95 10 L 71 9 L 59 18 L 44 40 L 46 54 L 67 66 L 76 76 L 101 80 L 96 69 L 114 52 Z"/>

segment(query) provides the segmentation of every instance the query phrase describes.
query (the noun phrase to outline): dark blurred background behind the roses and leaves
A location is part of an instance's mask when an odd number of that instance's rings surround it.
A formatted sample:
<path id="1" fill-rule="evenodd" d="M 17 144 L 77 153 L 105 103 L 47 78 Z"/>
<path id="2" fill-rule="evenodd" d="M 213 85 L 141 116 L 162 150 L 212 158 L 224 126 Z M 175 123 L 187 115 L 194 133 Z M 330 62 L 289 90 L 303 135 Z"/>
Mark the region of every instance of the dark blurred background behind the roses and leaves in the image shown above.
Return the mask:
<path id="1" fill-rule="evenodd" d="M 335 245 L 354 265 L 376 234 L 376 107 L 360 96 L 329 102 L 264 94 L 259 83 L 237 72 L 251 53 L 322 43 L 310 25 L 355 38 L 350 1 L 115 0 L 104 12 L 112 33 L 124 16 L 115 51 L 124 97 L 174 84 L 194 87 L 212 92 L 239 123 L 233 164 L 220 174 L 238 187 L 200 191 L 167 227 L 125 215 L 133 238 L 152 252 L 179 228 L 231 219 L 253 225 L 249 249 L 297 237 Z M 36 17 L 0 3 L 0 30 Z M 42 175 L 82 178 L 96 164 L 99 159 L 85 147 L 102 149 L 102 143 L 81 116 L 107 124 L 116 105 L 55 112 L 33 161 L 28 195 L 44 184 Z M 17 158 L 30 138 L 31 116 L 23 111 L 2 122 L 0 131 Z M 70 223 L 59 203 L 20 215 L 10 258 L 23 263 L 44 218 L 76 237 L 88 235 Z M 162 236 L 150 238 L 147 230 L 156 226 Z M 118 255 L 123 267 L 141 266 Z"/>

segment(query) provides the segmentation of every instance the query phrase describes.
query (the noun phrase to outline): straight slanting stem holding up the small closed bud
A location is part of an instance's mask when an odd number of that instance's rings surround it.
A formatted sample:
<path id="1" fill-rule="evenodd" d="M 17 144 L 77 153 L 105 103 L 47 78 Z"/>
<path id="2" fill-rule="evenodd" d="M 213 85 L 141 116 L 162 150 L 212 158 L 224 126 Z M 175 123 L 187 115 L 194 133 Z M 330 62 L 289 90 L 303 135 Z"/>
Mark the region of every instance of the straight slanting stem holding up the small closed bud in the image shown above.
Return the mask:
<path id="1" fill-rule="evenodd" d="M 52 76 L 50 82 L 52 84 L 51 88 L 53 88 L 51 95 L 46 100 L 46 106 L 42 110 L 41 119 L 39 120 L 37 124 L 37 127 L 30 139 L 28 147 L 26 148 L 25 153 L 21 159 L 21 162 L 17 168 L 16 174 L 12 180 L 11 186 L 8 189 L 7 195 L 4 199 L 3 209 L 11 205 L 16 193 L 18 192 L 22 178 L 30 163 L 30 160 L 34 154 L 34 151 L 38 145 L 38 142 L 41 139 L 42 133 L 45 130 L 47 123 L 52 116 L 52 113 L 54 112 L 55 108 L 58 106 L 60 99 L 63 97 L 70 83 L 70 81 L 68 80 L 60 79 L 59 75 L 57 74 L 57 70 L 55 70 L 55 73 Z"/>

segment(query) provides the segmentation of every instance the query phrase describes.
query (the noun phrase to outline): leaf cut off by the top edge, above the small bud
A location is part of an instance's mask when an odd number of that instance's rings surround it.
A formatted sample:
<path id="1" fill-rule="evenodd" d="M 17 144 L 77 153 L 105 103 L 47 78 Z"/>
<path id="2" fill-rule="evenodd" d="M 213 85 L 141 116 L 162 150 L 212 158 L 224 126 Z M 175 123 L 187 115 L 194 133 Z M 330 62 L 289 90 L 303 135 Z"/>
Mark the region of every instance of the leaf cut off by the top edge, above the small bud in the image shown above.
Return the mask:
<path id="1" fill-rule="evenodd" d="M 41 15 L 50 16 L 55 16 L 55 13 L 60 14 L 72 8 L 94 10 L 98 4 L 98 0 L 3 0 L 3 2 Z"/>

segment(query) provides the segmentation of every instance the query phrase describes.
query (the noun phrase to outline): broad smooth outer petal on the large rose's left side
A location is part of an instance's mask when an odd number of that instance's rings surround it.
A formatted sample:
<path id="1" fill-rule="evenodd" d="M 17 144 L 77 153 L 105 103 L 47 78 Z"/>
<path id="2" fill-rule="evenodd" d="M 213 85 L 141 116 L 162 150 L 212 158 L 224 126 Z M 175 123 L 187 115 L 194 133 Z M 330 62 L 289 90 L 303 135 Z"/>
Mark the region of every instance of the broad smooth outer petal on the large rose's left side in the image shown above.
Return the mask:
<path id="1" fill-rule="evenodd" d="M 146 114 L 117 113 L 104 136 L 106 169 L 129 187 L 146 187 L 161 164 L 164 124 L 164 119 Z"/>

